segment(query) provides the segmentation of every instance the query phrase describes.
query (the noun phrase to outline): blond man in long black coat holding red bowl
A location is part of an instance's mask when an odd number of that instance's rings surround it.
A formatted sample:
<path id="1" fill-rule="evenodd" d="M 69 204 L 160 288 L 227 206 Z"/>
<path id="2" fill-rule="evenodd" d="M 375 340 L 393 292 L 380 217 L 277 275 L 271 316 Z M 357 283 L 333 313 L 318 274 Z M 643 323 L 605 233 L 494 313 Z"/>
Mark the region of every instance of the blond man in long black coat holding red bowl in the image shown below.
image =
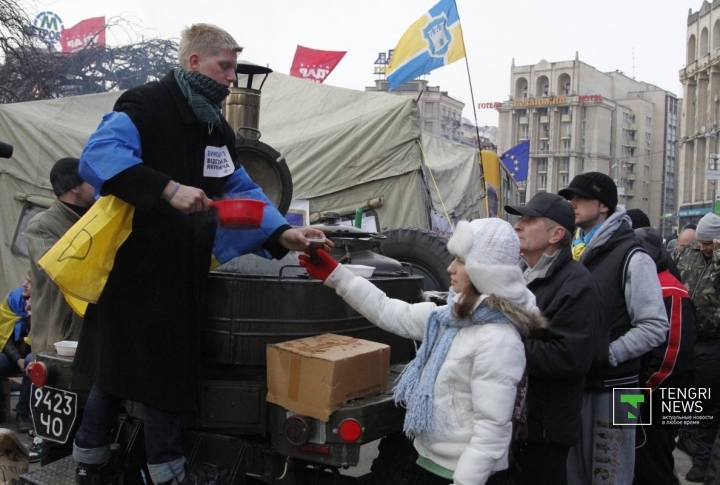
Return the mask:
<path id="1" fill-rule="evenodd" d="M 180 67 L 123 93 L 80 158 L 83 178 L 134 206 L 134 215 L 102 294 L 87 310 L 75 358 L 76 369 L 95 379 L 73 450 L 79 485 L 115 478 L 109 430 L 121 398 L 144 405 L 152 481 L 184 479 L 181 416 L 196 402 L 196 342 L 218 230 L 210 202 L 227 194 L 269 202 L 235 165 L 235 136 L 220 111 L 241 50 L 218 27 L 185 29 Z M 290 228 L 271 204 L 260 228 L 237 235 L 242 252 L 268 258 L 323 237 Z"/>

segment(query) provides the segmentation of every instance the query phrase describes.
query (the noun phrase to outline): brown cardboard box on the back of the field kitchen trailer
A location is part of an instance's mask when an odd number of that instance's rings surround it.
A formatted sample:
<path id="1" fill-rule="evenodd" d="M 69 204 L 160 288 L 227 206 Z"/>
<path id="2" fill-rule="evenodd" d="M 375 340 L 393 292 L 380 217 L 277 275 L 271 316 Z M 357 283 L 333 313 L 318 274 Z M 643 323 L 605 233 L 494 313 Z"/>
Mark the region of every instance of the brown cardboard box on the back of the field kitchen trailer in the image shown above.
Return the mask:
<path id="1" fill-rule="evenodd" d="M 267 347 L 267 400 L 328 421 L 346 402 L 385 392 L 390 347 L 324 334 Z"/>

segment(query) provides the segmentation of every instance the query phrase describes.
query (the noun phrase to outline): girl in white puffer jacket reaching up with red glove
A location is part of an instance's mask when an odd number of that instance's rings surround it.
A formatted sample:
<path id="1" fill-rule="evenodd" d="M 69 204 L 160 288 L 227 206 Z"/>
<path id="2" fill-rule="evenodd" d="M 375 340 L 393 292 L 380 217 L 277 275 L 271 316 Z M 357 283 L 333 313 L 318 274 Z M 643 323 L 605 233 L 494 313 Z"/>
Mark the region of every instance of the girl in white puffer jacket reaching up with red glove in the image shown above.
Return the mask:
<path id="1" fill-rule="evenodd" d="M 419 454 L 411 483 L 502 483 L 525 370 L 521 333 L 544 321 L 525 288 L 510 224 L 462 221 L 448 249 L 455 259 L 446 306 L 388 298 L 322 250 L 317 259 L 301 255 L 300 264 L 371 322 L 423 341 L 395 388 Z"/>

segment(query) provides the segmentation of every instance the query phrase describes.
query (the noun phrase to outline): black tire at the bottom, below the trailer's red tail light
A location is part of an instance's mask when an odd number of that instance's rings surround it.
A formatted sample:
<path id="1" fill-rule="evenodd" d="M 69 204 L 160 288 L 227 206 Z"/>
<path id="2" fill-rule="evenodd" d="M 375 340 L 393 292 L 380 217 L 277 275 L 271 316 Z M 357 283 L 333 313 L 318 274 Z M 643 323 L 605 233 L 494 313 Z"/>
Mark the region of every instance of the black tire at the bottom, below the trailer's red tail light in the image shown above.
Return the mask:
<path id="1" fill-rule="evenodd" d="M 378 456 L 370 467 L 368 485 L 407 485 L 414 483 L 418 454 L 412 441 L 402 433 L 385 436 L 378 445 Z"/>

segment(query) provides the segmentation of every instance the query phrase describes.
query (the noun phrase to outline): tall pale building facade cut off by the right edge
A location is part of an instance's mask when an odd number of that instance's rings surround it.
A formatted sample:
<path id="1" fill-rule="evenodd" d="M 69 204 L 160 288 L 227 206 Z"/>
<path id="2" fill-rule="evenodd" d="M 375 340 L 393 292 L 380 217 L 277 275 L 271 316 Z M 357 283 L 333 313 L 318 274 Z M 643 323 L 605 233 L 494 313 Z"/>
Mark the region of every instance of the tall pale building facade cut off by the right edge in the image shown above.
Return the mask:
<path id="1" fill-rule="evenodd" d="M 678 226 L 697 222 L 714 209 L 720 173 L 720 0 L 688 13 L 682 129 L 678 141 Z M 716 210 L 716 213 L 718 211 Z"/>

